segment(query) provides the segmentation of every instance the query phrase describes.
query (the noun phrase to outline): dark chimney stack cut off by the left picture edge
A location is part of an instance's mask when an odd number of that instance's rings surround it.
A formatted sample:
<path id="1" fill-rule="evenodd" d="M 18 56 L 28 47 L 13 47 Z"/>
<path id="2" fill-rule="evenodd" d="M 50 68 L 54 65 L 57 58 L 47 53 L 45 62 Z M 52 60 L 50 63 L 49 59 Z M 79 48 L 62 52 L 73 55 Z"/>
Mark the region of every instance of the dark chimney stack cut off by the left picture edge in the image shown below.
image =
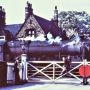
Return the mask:
<path id="1" fill-rule="evenodd" d="M 5 10 L 0 6 L 0 29 L 3 29 L 5 27 Z"/>

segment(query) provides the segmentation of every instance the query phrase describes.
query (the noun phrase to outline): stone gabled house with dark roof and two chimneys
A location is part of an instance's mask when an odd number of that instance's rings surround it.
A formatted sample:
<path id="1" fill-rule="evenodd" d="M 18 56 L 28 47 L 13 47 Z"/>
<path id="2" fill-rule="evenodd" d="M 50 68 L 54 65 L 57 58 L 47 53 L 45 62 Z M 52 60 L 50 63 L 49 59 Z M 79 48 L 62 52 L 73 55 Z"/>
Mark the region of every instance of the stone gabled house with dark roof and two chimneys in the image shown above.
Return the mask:
<path id="1" fill-rule="evenodd" d="M 47 20 L 33 13 L 32 4 L 27 2 L 25 7 L 25 21 L 22 24 L 6 25 L 5 30 L 12 34 L 12 39 L 26 38 L 27 36 L 37 38 L 38 36 L 47 37 L 50 32 L 55 38 L 62 37 L 62 30 L 58 27 L 58 10 L 55 6 L 54 19 Z"/>

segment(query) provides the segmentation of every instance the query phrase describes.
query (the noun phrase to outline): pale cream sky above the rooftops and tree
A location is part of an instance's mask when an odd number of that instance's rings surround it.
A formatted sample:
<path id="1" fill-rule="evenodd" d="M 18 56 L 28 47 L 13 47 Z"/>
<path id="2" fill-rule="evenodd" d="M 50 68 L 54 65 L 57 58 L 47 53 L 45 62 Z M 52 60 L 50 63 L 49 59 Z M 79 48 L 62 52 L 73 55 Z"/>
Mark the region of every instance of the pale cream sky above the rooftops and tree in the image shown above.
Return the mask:
<path id="1" fill-rule="evenodd" d="M 25 6 L 29 1 L 34 14 L 50 20 L 57 5 L 60 11 L 86 11 L 90 14 L 90 0 L 0 0 L 0 6 L 6 11 L 6 24 L 23 23 Z"/>

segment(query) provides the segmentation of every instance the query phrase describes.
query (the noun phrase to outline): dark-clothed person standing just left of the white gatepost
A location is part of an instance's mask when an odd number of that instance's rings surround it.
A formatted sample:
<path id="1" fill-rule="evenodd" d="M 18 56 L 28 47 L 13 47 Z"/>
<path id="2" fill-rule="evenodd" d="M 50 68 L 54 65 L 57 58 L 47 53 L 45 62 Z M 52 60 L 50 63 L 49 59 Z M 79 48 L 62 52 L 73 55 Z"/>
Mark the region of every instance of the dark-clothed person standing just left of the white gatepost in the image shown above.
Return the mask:
<path id="1" fill-rule="evenodd" d="M 20 84 L 19 60 L 16 60 L 14 63 L 14 72 L 15 72 L 15 84 Z"/>

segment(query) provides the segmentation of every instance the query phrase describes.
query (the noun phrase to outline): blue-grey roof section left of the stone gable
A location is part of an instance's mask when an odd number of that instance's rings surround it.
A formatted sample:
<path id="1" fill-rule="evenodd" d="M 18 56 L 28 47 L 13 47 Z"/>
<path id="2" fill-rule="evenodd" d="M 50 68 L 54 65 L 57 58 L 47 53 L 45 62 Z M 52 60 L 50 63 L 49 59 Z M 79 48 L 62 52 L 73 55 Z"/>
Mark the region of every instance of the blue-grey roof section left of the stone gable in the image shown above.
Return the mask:
<path id="1" fill-rule="evenodd" d="M 6 25 L 6 30 L 9 30 L 13 36 L 16 35 L 16 33 L 20 30 L 22 24 L 10 24 L 10 25 Z"/>

